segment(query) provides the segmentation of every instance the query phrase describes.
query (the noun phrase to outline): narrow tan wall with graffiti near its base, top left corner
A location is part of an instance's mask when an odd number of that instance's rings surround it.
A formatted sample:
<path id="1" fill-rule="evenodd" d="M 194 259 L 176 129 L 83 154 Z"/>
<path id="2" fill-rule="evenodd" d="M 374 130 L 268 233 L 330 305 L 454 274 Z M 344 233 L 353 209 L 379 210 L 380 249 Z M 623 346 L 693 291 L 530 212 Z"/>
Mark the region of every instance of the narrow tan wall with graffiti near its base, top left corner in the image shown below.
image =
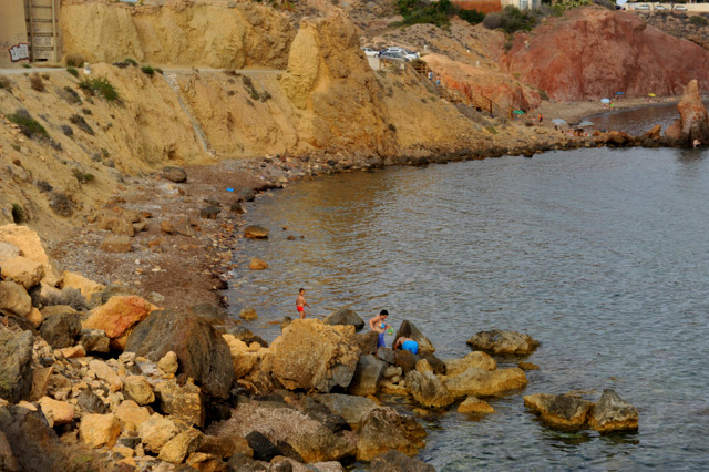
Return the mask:
<path id="1" fill-rule="evenodd" d="M 0 1 L 0 66 L 29 62 L 29 53 L 24 0 Z"/>

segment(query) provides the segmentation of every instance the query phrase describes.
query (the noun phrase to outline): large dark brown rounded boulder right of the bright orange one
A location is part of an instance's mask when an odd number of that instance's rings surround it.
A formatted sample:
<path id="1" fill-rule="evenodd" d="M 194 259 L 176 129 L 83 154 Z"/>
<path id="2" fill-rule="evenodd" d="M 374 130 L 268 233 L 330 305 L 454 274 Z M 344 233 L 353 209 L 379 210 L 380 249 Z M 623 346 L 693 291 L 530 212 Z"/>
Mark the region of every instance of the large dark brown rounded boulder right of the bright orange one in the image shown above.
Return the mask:
<path id="1" fill-rule="evenodd" d="M 227 398 L 234 382 L 229 347 L 208 319 L 193 308 L 153 311 L 129 336 L 125 351 L 157 362 L 177 355 L 179 369 L 203 393 Z"/>

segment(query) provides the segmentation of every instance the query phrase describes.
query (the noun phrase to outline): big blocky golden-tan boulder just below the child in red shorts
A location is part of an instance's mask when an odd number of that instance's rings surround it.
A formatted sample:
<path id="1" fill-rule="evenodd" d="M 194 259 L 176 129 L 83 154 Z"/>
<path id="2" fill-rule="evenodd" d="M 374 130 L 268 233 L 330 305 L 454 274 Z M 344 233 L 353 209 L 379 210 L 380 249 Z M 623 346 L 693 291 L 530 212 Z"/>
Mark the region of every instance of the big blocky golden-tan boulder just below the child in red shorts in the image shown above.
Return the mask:
<path id="1" fill-rule="evenodd" d="M 290 390 L 329 392 L 335 386 L 347 388 L 360 357 L 353 336 L 352 326 L 295 319 L 270 346 L 273 373 Z"/>

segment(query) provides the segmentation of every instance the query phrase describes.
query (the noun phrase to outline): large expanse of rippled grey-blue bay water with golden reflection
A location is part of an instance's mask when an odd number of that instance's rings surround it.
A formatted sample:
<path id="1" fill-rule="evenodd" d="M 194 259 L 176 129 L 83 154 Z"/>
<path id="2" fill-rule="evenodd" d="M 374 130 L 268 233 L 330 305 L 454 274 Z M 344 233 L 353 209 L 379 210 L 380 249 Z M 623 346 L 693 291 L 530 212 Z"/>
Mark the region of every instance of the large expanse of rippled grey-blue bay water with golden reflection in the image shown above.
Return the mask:
<path id="1" fill-rule="evenodd" d="M 541 369 L 523 392 L 490 399 L 494 414 L 453 407 L 422 420 L 420 459 L 439 470 L 707 469 L 707 150 L 577 150 L 316 178 L 249 207 L 246 219 L 271 235 L 244 240 L 237 261 L 256 256 L 270 269 L 234 274 L 230 310 L 254 306 L 247 326 L 271 340 L 279 328 L 267 321 L 295 317 L 304 286 L 309 316 L 387 308 L 443 359 L 467 353 L 484 329 L 540 340 L 526 360 Z M 606 388 L 637 407 L 637 433 L 556 432 L 522 400 L 569 390 L 597 400 Z"/>

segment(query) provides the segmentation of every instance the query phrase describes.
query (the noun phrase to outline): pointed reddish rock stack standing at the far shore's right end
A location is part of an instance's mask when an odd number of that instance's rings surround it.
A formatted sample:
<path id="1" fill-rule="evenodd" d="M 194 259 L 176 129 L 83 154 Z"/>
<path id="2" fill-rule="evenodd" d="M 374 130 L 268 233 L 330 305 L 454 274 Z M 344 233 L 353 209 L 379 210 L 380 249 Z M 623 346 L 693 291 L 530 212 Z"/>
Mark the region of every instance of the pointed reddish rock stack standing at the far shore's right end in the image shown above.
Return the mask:
<path id="1" fill-rule="evenodd" d="M 680 117 L 665 131 L 665 135 L 678 146 L 690 147 L 695 140 L 703 146 L 709 145 L 709 113 L 701 101 L 697 80 L 687 84 L 677 110 Z"/>

